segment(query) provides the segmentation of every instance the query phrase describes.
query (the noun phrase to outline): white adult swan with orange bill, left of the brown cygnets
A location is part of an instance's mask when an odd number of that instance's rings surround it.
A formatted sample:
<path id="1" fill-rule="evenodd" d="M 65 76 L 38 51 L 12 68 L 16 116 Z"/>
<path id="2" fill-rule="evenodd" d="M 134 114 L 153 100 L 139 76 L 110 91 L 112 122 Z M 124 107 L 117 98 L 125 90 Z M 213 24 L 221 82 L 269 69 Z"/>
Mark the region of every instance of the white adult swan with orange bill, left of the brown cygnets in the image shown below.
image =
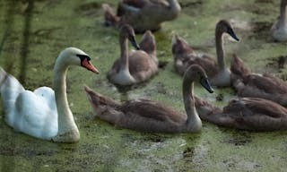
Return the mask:
<path id="1" fill-rule="evenodd" d="M 5 122 L 15 131 L 54 142 L 77 142 L 80 133 L 66 98 L 65 74 L 69 65 L 79 65 L 94 73 L 91 58 L 81 49 L 68 47 L 57 57 L 54 90 L 40 87 L 33 92 L 0 67 L 0 90 Z"/>

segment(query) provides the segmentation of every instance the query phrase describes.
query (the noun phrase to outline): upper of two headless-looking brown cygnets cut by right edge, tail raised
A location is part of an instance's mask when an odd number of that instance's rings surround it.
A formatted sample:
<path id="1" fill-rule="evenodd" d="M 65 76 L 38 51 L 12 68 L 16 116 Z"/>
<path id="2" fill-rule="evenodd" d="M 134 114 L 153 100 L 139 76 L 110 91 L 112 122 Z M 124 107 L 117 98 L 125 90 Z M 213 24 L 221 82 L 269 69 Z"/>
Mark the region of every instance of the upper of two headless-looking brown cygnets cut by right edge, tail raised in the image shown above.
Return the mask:
<path id="1" fill-rule="evenodd" d="M 287 83 L 280 78 L 251 73 L 237 56 L 233 56 L 230 69 L 231 82 L 239 96 L 270 99 L 287 106 Z"/>

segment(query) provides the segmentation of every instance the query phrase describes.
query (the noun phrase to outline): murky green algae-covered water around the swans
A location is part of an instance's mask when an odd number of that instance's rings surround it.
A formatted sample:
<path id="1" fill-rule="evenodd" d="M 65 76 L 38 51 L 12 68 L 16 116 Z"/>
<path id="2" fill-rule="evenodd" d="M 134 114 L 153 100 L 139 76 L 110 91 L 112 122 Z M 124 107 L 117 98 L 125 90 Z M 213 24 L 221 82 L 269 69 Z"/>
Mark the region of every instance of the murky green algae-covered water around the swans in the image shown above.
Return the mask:
<path id="1" fill-rule="evenodd" d="M 201 133 L 138 133 L 116 128 L 95 118 L 83 91 L 86 84 L 98 92 L 121 99 L 106 80 L 119 56 L 117 30 L 102 26 L 100 4 L 109 0 L 0 1 L 0 65 L 34 90 L 52 84 L 52 69 L 65 47 L 80 47 L 100 69 L 94 75 L 72 67 L 68 73 L 68 100 L 81 132 L 74 144 L 46 142 L 15 133 L 0 116 L 0 171 L 286 171 L 286 132 L 248 133 L 204 123 Z M 181 78 L 173 69 L 172 33 L 215 54 L 214 26 L 220 19 L 234 22 L 240 42 L 225 39 L 226 61 L 238 54 L 253 71 L 272 72 L 278 59 L 287 56 L 286 43 L 274 43 L 268 30 L 277 18 L 279 0 L 179 0 L 183 11 L 155 33 L 158 57 L 167 65 L 150 82 L 128 92 L 129 99 L 159 100 L 184 112 Z M 140 39 L 140 35 L 137 39 Z M 223 101 L 216 101 L 219 94 Z M 215 90 L 196 95 L 224 106 L 235 93 Z M 170 99 L 172 98 L 172 99 Z"/>

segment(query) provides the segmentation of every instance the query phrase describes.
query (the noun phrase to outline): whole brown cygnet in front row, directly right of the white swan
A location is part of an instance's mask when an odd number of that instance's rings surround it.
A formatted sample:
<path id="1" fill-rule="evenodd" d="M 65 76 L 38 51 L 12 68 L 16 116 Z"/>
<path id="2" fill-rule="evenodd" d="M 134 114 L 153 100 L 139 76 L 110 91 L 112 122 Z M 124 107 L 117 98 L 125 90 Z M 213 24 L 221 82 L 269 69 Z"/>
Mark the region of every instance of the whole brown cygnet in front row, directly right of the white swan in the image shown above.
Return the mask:
<path id="1" fill-rule="evenodd" d="M 121 104 L 85 87 L 94 112 L 100 119 L 119 127 L 145 132 L 187 133 L 200 132 L 202 123 L 194 102 L 194 82 L 213 92 L 204 69 L 191 65 L 184 75 L 182 95 L 187 114 L 148 99 L 129 100 Z"/>

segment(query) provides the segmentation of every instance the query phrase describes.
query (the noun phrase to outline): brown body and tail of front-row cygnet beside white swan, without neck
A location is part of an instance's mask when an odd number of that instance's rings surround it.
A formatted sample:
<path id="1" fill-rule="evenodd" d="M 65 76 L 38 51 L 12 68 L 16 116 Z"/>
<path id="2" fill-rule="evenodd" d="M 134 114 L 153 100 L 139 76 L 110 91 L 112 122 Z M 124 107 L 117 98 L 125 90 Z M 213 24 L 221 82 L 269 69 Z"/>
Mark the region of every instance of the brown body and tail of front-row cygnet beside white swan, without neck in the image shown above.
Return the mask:
<path id="1" fill-rule="evenodd" d="M 100 119 L 137 131 L 176 133 L 183 130 L 187 116 L 151 100 L 137 99 L 123 105 L 85 87 L 91 105 Z"/>

